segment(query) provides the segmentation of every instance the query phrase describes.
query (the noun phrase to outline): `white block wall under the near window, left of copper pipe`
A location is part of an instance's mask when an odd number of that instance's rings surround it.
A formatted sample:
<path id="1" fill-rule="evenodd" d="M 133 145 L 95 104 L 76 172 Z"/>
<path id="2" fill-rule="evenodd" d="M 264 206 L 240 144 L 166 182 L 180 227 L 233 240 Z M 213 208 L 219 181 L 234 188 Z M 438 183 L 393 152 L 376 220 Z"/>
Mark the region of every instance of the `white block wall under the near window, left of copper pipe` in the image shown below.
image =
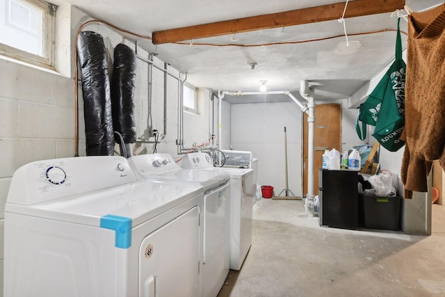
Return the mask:
<path id="1" fill-rule="evenodd" d="M 0 59 L 0 271 L 11 177 L 35 160 L 74 156 L 74 79 Z M 3 294 L 3 275 L 0 278 Z"/>

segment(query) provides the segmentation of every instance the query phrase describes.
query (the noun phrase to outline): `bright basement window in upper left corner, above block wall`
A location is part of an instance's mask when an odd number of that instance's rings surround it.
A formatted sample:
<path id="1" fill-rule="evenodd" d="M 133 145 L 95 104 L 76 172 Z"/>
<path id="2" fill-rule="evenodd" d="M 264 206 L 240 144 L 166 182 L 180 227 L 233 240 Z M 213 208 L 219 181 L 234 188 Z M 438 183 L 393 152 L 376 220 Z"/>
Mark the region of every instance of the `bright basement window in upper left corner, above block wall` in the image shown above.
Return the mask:
<path id="1" fill-rule="evenodd" d="M 0 0 L 0 54 L 54 68 L 56 6 L 38 0 Z"/>

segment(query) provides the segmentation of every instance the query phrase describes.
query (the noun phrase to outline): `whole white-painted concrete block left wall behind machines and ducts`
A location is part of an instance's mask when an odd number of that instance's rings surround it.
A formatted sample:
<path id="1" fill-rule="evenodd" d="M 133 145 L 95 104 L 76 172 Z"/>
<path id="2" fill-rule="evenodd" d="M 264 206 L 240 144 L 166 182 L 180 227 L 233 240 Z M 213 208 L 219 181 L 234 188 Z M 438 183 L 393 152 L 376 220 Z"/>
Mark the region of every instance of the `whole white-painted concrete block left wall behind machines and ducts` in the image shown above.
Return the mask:
<path id="1" fill-rule="evenodd" d="M 74 40 L 77 29 L 90 17 L 73 6 L 61 6 L 58 10 L 58 34 L 69 35 Z M 69 25 L 67 25 L 69 24 Z M 110 57 L 113 48 L 122 42 L 122 35 L 104 25 L 93 24 L 84 30 L 97 31 L 104 37 Z M 67 32 L 66 32 L 67 31 Z M 134 43 L 123 40 L 133 49 Z M 4 207 L 13 173 L 20 166 L 31 161 L 74 156 L 74 45 L 67 45 L 67 38 L 56 40 L 58 60 L 56 69 L 60 73 L 48 72 L 0 58 L 0 297 L 3 296 L 3 227 Z M 63 51 L 63 53 L 60 53 Z M 138 54 L 148 58 L 148 53 L 138 48 Z M 110 60 L 111 62 L 111 60 Z M 63 63 L 61 65 L 60 63 Z M 110 64 L 112 65 L 112 64 Z M 156 65 L 164 67 L 164 62 L 156 59 Z M 136 74 L 135 117 L 138 136 L 147 127 L 148 86 L 152 83 L 153 128 L 163 132 L 164 72 L 153 68 L 152 81 L 148 81 L 148 65 L 138 61 Z M 172 76 L 179 77 L 174 67 L 168 66 L 167 83 L 167 136 L 157 146 L 157 152 L 177 156 L 177 131 L 179 112 L 179 86 Z M 63 74 L 63 75 L 62 75 Z M 79 155 L 85 156 L 85 125 L 83 121 L 83 101 L 79 90 Z M 193 120 L 184 117 L 184 127 L 188 141 L 201 143 L 208 138 L 209 92 L 200 91 L 200 115 Z M 151 152 L 152 144 L 143 144 L 136 152 L 146 148 Z M 118 147 L 116 147 L 118 150 Z"/>

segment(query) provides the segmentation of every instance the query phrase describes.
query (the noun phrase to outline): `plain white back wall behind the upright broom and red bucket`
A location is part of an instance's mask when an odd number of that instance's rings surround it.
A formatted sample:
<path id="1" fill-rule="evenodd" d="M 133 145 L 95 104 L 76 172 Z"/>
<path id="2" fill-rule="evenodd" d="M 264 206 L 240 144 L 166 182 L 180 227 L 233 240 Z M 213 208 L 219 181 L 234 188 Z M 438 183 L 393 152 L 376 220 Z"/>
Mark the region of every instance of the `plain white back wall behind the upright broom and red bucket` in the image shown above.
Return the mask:
<path id="1" fill-rule="evenodd" d="M 301 195 L 300 108 L 293 102 L 232 104 L 231 145 L 234 150 L 251 151 L 258 158 L 258 183 L 285 188 L 284 127 L 287 138 L 289 189 Z"/>

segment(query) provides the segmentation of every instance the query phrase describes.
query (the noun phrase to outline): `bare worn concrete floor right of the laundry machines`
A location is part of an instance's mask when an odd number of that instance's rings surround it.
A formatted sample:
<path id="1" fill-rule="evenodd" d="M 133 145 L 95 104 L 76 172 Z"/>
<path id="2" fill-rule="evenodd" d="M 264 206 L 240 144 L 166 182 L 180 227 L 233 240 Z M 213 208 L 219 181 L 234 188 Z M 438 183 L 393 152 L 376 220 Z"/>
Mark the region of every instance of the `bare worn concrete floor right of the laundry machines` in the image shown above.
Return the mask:
<path id="1" fill-rule="evenodd" d="M 320 227 L 302 200 L 254 204 L 253 242 L 218 297 L 445 296 L 445 211 L 432 235 Z"/>

